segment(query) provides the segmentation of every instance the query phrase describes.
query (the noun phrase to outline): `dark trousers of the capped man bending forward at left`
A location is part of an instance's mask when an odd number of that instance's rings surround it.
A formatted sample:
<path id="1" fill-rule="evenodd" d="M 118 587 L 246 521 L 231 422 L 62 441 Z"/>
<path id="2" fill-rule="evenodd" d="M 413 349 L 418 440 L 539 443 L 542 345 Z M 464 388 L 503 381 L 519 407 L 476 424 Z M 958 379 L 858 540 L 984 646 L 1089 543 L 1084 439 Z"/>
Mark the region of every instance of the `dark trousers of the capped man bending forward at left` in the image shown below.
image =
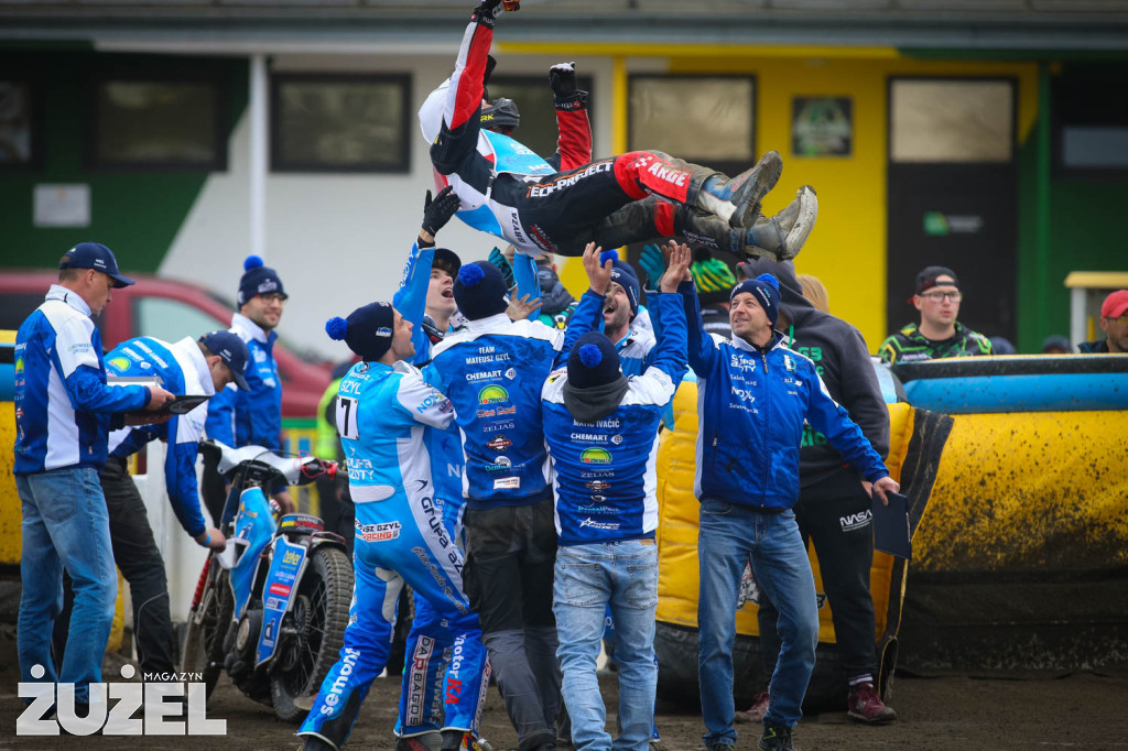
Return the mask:
<path id="1" fill-rule="evenodd" d="M 111 458 L 106 462 L 102 470 L 102 491 L 109 512 L 114 563 L 130 585 L 133 640 L 141 674 L 171 673 L 175 647 L 165 560 L 157 549 L 144 502 L 130 477 L 125 459 Z"/>

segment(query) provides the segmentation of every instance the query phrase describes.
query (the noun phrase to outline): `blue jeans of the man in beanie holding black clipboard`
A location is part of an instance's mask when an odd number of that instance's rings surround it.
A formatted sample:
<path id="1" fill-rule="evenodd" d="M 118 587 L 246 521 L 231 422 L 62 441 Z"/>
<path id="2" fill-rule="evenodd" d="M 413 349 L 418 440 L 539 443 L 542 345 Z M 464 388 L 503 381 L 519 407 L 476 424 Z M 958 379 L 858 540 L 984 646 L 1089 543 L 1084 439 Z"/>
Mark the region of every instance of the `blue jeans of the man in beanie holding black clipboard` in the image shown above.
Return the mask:
<path id="1" fill-rule="evenodd" d="M 700 597 L 697 600 L 698 661 L 705 744 L 734 743 L 732 644 L 737 594 L 744 563 L 779 611 L 779 660 L 768 686 L 766 725 L 793 726 L 814 668 L 819 612 L 807 548 L 792 511 L 764 513 L 719 498 L 702 498 Z"/>

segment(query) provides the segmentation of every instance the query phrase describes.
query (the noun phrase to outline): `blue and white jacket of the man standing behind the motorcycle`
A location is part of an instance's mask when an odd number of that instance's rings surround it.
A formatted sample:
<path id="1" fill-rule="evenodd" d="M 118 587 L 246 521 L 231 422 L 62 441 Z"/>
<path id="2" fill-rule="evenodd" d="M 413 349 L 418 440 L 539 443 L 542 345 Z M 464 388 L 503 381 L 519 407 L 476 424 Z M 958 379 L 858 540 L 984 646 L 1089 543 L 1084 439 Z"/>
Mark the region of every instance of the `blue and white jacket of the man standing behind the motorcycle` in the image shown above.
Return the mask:
<path id="1" fill-rule="evenodd" d="M 228 330 L 247 343 L 250 359 L 243 374 L 250 389 L 240 391 L 230 383 L 212 397 L 208 405 L 208 438 L 232 448 L 261 445 L 279 450 L 282 448 L 282 380 L 274 362 L 274 342 L 279 335 L 267 334 L 241 313 L 231 317 Z"/>

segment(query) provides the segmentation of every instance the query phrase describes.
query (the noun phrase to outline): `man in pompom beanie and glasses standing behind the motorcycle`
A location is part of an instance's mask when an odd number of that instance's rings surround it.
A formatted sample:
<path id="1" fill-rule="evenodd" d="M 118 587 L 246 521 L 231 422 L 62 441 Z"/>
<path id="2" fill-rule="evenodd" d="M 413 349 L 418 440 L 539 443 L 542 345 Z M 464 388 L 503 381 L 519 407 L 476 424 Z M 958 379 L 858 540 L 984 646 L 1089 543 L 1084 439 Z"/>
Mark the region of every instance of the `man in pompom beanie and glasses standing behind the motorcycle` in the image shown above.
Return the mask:
<path id="1" fill-rule="evenodd" d="M 246 342 L 250 351 L 250 362 L 244 373 L 250 389 L 228 388 L 217 394 L 208 405 L 206 432 L 208 438 L 232 448 L 261 445 L 277 451 L 282 448 L 282 381 L 274 362 L 274 343 L 279 336 L 274 329 L 290 295 L 277 273 L 264 266 L 258 256 L 247 256 L 243 268 L 237 297 L 239 311 L 231 317 L 230 332 Z M 205 462 L 204 471 L 215 471 L 211 460 Z M 210 487 L 219 487 L 214 476 Z M 294 510 L 290 491 L 284 486 L 272 495 L 283 513 Z M 208 492 L 212 519 L 220 519 L 226 500 L 226 492 Z"/>

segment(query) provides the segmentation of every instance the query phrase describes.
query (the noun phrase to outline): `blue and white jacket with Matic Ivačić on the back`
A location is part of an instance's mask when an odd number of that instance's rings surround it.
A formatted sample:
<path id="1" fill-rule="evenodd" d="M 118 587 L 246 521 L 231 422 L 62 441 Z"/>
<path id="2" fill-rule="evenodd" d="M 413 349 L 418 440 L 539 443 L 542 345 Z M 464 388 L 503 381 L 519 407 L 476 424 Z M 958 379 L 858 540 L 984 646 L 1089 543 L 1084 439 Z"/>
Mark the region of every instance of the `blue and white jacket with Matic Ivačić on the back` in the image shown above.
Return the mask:
<path id="1" fill-rule="evenodd" d="M 631 377 L 619 406 L 582 423 L 564 405 L 567 368 L 541 390 L 545 441 L 553 459 L 556 534 L 561 545 L 654 537 L 658 528 L 658 427 L 686 365 L 686 317 L 680 295 L 658 295 L 662 338 L 653 364 Z"/>

